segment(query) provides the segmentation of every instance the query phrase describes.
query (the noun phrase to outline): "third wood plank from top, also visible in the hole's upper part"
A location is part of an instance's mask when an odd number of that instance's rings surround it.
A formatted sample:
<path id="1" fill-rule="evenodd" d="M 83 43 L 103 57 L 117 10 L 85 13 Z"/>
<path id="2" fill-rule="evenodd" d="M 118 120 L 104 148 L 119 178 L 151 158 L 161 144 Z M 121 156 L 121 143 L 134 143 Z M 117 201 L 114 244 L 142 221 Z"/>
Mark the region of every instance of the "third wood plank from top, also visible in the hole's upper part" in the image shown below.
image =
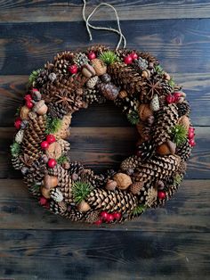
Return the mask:
<path id="1" fill-rule="evenodd" d="M 194 126 L 209 126 L 210 119 L 210 72 L 174 73 L 174 78 L 186 92 L 192 107 L 191 120 Z M 22 103 L 28 76 L 0 76 L 0 126 L 13 125 L 14 114 Z M 88 110 L 76 112 L 73 127 L 127 127 L 120 109 L 113 103 L 93 104 Z M 97 116 L 97 117 L 96 117 Z"/>

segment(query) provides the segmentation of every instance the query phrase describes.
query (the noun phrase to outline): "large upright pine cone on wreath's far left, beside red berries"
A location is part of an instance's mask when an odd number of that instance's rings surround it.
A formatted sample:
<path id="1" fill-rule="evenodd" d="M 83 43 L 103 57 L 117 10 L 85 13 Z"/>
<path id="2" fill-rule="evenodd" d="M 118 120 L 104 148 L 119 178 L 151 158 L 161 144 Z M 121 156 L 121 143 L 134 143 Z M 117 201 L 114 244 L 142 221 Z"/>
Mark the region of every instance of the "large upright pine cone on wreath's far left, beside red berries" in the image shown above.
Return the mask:
<path id="1" fill-rule="evenodd" d="M 28 127 L 25 129 L 21 143 L 21 152 L 27 154 L 32 161 L 38 159 L 42 153 L 40 144 L 45 137 L 45 127 L 45 116 L 37 116 L 28 120 Z"/>

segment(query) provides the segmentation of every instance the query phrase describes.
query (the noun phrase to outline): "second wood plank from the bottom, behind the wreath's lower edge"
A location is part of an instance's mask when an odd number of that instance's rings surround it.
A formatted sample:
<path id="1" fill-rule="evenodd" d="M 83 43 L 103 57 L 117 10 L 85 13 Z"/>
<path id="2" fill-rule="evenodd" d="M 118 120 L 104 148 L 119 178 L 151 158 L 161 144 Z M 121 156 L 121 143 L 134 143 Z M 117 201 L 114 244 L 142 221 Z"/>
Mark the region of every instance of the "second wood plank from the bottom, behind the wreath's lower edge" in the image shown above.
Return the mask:
<path id="1" fill-rule="evenodd" d="M 0 179 L 0 229 L 83 229 L 141 232 L 196 232 L 210 230 L 210 180 L 184 180 L 165 208 L 147 210 L 140 218 L 122 225 L 86 225 L 58 217 L 37 204 L 21 179 Z"/>

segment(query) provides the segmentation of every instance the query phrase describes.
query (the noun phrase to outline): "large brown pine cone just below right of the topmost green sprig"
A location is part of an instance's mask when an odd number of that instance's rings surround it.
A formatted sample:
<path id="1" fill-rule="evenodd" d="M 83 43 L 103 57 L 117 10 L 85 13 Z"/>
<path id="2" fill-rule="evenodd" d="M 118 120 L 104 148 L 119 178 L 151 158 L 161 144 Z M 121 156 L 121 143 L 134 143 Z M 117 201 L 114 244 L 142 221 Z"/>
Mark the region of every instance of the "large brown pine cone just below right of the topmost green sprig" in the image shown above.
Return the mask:
<path id="1" fill-rule="evenodd" d="M 115 85 L 125 89 L 128 95 L 141 93 L 141 87 L 145 84 L 140 74 L 132 67 L 122 62 L 115 62 L 109 65 L 108 73 Z"/>

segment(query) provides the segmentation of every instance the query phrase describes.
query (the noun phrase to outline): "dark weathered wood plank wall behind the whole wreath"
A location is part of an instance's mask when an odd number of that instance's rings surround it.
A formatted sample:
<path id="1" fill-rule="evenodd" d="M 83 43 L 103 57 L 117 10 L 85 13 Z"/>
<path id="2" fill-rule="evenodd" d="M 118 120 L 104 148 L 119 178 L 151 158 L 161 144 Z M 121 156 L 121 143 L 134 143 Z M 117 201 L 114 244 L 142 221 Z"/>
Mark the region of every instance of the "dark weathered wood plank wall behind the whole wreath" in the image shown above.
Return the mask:
<path id="1" fill-rule="evenodd" d="M 44 211 L 9 161 L 13 115 L 31 70 L 57 52 L 88 43 L 82 1 L 0 1 L 0 279 L 210 278 L 210 1 L 108 1 L 127 46 L 155 54 L 192 105 L 197 146 L 178 194 L 111 228 L 77 225 Z M 87 1 L 87 11 L 101 1 Z M 115 26 L 109 10 L 95 20 Z M 117 37 L 93 31 L 93 44 Z M 97 171 L 132 152 L 134 130 L 113 105 L 75 114 L 72 158 Z"/>

